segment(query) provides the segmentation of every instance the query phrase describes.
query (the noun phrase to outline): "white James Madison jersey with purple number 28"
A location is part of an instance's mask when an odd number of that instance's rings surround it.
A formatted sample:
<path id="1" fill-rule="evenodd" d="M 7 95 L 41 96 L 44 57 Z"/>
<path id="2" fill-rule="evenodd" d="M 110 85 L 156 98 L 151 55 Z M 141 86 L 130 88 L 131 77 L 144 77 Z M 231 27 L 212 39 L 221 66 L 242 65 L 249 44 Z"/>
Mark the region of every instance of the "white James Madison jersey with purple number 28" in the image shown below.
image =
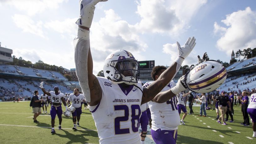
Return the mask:
<path id="1" fill-rule="evenodd" d="M 122 87 L 104 77 L 97 77 L 102 98 L 98 105 L 90 106 L 103 144 L 140 144 L 138 121 L 141 116 L 142 85 Z"/>

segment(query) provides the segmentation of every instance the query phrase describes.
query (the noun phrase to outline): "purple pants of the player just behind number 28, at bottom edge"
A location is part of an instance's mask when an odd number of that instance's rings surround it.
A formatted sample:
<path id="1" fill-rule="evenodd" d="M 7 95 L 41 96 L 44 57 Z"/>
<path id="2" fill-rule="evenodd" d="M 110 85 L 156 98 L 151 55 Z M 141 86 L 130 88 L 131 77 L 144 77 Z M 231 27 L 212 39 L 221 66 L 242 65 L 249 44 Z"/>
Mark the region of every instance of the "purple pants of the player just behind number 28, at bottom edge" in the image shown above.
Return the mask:
<path id="1" fill-rule="evenodd" d="M 151 129 L 151 136 L 156 144 L 176 144 L 177 130 Z"/>

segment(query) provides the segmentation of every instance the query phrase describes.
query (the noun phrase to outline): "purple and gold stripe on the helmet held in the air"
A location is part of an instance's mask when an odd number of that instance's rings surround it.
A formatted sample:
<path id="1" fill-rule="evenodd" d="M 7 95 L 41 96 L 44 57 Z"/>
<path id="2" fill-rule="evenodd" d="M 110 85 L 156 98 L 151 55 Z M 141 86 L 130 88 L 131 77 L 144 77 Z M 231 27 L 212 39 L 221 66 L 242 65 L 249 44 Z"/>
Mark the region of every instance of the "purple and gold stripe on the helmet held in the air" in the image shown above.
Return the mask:
<path id="1" fill-rule="evenodd" d="M 209 77 L 209 78 L 207 78 L 205 80 L 201 80 L 199 82 L 189 84 L 189 87 L 192 90 L 202 89 L 202 88 L 205 88 L 207 86 L 210 86 L 210 85 L 220 81 L 226 75 L 227 75 L 227 70 L 225 68 L 223 68 L 218 73 L 216 73 L 215 75 L 213 75 L 213 76 L 211 76 L 211 77 Z"/>

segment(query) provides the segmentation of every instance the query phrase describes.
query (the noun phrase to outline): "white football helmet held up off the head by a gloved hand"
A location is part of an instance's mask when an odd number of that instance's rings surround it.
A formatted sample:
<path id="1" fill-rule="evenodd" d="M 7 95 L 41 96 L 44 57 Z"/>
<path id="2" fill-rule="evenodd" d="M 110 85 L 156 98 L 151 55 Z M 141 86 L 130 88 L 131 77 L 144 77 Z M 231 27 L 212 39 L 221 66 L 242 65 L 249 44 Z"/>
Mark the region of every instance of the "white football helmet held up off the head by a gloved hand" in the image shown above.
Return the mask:
<path id="1" fill-rule="evenodd" d="M 209 60 L 188 70 L 185 85 L 190 91 L 206 93 L 215 90 L 227 78 L 227 70 L 220 63 Z"/>

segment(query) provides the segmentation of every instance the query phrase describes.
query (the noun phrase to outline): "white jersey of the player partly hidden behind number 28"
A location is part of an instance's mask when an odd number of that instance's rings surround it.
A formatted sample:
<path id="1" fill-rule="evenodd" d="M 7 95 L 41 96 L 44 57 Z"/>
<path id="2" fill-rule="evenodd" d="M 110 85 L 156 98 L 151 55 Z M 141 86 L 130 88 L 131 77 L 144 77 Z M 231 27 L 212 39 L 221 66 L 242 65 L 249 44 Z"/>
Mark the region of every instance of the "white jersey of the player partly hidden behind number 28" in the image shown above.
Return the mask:
<path id="1" fill-rule="evenodd" d="M 153 81 L 147 82 L 143 87 L 152 84 Z M 171 81 L 162 91 L 170 90 L 175 86 L 174 81 Z M 176 105 L 177 97 L 173 97 L 167 102 L 156 103 L 153 101 L 147 102 L 152 119 L 152 130 L 177 130 L 180 125 L 180 115 Z"/>

